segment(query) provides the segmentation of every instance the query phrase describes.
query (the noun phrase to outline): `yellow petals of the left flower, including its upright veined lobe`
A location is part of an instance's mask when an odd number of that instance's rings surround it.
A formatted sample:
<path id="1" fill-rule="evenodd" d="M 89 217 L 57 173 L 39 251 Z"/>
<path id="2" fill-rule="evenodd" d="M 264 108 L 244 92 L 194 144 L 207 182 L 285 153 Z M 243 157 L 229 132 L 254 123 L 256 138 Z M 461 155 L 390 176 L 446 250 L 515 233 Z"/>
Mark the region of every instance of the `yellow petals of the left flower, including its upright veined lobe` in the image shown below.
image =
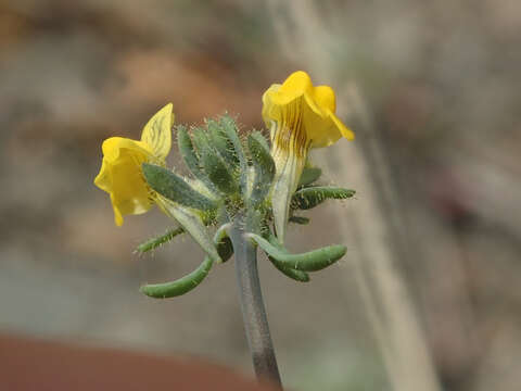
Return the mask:
<path id="1" fill-rule="evenodd" d="M 171 103 L 161 109 L 144 126 L 141 140 L 111 137 L 103 141 L 103 162 L 94 185 L 111 195 L 114 219 L 147 212 L 156 202 L 141 171 L 142 163 L 165 165 L 171 148 Z"/>

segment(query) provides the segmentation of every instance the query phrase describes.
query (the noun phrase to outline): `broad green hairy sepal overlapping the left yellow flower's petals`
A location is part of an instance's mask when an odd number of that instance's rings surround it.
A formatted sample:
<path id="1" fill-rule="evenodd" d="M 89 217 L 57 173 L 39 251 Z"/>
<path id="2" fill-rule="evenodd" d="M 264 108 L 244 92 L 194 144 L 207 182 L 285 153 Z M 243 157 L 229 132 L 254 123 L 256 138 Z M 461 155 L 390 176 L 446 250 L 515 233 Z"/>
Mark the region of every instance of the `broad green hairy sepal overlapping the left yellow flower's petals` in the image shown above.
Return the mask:
<path id="1" fill-rule="evenodd" d="M 150 187 L 168 200 L 200 211 L 212 211 L 217 207 L 214 201 L 194 190 L 169 169 L 149 163 L 143 163 L 142 168 Z"/>

